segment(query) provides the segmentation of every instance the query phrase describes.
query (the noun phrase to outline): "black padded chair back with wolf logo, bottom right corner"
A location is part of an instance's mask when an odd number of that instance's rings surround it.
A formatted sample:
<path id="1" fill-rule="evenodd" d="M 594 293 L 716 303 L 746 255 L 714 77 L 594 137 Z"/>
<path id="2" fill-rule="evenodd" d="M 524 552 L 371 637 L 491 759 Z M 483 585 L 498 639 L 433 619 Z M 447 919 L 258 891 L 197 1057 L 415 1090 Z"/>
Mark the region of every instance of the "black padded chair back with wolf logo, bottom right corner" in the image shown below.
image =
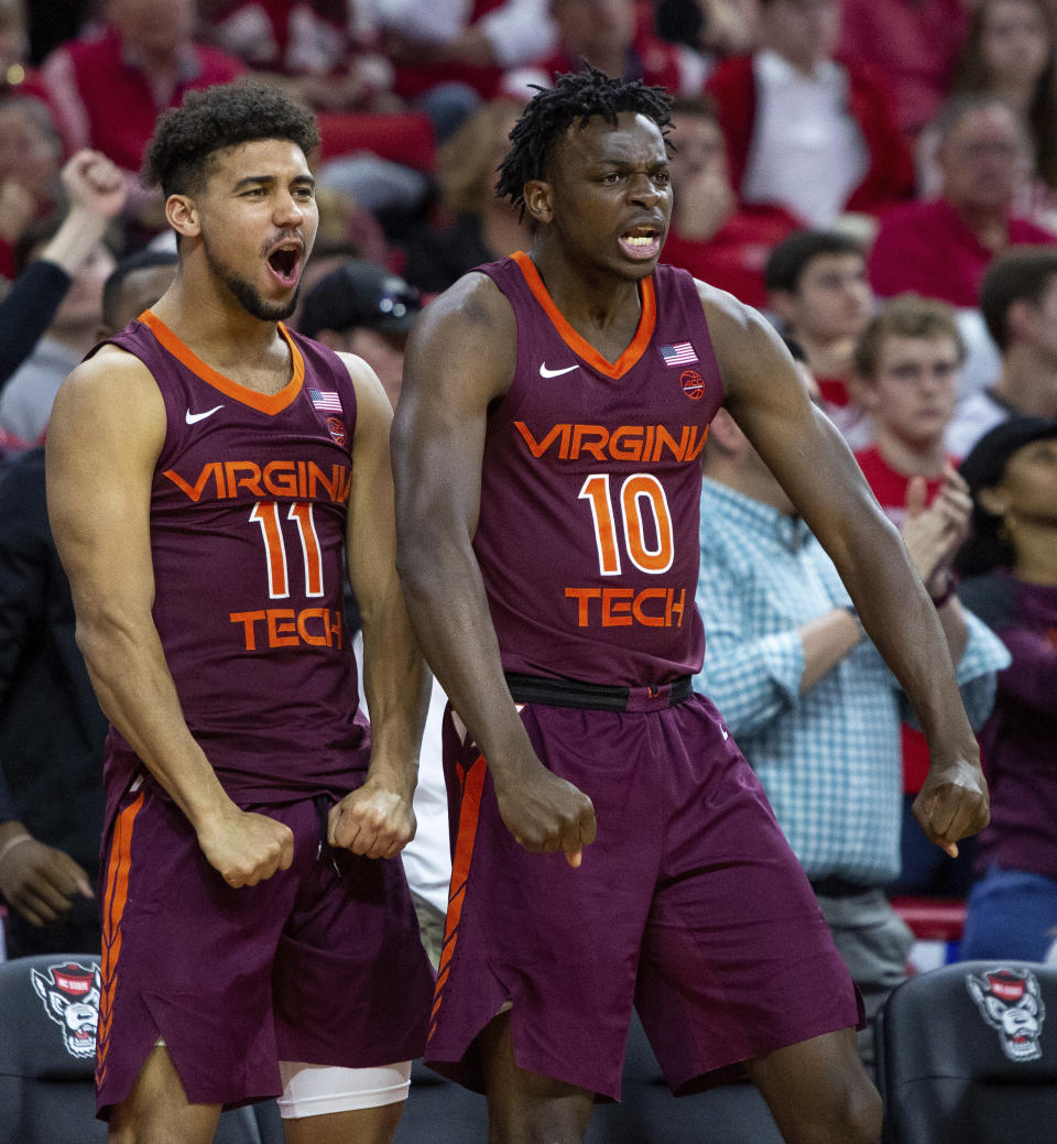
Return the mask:
<path id="1" fill-rule="evenodd" d="M 885 1144 L 1057 1141 L 1057 967 L 962 961 L 884 1004 Z"/>

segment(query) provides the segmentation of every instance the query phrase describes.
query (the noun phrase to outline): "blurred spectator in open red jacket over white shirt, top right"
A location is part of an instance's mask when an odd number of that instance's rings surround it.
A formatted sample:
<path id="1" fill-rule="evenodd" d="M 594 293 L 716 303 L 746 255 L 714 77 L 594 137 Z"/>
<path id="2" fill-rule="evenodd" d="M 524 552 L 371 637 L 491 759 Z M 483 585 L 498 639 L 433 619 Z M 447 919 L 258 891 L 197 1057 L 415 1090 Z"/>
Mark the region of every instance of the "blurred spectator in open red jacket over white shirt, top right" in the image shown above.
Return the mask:
<path id="1" fill-rule="evenodd" d="M 708 80 L 741 200 L 778 202 L 812 227 L 876 214 L 913 183 L 883 77 L 834 58 L 840 31 L 840 0 L 763 0 L 761 48 Z"/>

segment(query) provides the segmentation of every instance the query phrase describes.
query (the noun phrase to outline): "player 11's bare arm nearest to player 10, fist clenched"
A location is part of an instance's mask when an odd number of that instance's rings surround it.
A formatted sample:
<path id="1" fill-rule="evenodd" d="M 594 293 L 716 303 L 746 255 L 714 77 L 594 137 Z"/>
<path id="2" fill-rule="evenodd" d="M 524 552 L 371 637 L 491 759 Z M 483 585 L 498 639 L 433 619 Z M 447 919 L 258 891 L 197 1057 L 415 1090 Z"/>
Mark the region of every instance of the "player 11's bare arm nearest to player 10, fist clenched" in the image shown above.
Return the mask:
<path id="1" fill-rule="evenodd" d="M 415 835 L 411 803 L 429 705 L 429 676 L 396 572 L 389 461 L 392 408 L 374 372 L 360 358 L 341 357 L 356 387 L 345 553 L 364 631 L 371 764 L 364 785 L 331 810 L 329 841 L 368 858 L 392 858 Z"/>

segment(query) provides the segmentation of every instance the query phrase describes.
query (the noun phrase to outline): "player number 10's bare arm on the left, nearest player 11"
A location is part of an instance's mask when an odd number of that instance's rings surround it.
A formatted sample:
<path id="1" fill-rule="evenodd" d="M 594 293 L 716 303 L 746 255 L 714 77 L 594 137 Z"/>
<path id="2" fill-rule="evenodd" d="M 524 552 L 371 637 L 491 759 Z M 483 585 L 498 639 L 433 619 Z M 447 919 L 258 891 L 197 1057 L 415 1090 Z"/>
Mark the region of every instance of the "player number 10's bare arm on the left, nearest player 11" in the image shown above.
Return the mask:
<path id="1" fill-rule="evenodd" d="M 397 566 L 419 643 L 488 761 L 508 829 L 526 850 L 563 850 L 578 866 L 595 839 L 594 808 L 532 749 L 471 547 L 487 410 L 510 387 L 516 343 L 510 305 L 484 275 L 461 279 L 420 318 L 392 428 Z"/>

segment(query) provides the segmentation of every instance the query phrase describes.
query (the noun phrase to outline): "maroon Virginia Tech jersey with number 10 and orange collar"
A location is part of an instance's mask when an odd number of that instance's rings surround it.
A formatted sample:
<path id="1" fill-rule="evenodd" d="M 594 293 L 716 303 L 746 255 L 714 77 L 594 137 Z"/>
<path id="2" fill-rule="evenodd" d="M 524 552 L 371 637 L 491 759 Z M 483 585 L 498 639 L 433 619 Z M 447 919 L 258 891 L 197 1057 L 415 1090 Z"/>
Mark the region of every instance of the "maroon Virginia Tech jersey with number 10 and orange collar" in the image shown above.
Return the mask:
<path id="1" fill-rule="evenodd" d="M 610 363 L 526 254 L 480 269 L 517 320 L 474 538 L 503 668 L 628 686 L 699 670 L 700 454 L 723 389 L 693 279 L 643 280 Z"/>

